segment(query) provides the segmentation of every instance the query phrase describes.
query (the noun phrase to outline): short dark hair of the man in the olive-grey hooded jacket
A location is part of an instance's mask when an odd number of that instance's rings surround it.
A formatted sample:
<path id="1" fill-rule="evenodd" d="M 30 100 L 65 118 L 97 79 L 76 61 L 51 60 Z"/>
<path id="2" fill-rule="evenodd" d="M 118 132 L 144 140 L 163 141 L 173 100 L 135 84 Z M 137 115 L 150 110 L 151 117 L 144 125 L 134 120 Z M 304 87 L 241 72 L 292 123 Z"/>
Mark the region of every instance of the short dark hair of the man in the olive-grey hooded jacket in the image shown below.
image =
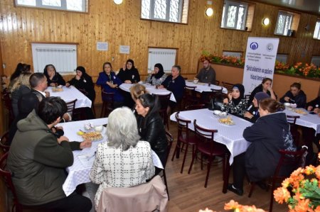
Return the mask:
<path id="1" fill-rule="evenodd" d="M 59 97 L 47 97 L 44 98 L 38 107 L 38 116 L 46 122 L 51 124 L 57 118 L 62 118 L 63 114 L 68 111 L 67 104 Z"/>

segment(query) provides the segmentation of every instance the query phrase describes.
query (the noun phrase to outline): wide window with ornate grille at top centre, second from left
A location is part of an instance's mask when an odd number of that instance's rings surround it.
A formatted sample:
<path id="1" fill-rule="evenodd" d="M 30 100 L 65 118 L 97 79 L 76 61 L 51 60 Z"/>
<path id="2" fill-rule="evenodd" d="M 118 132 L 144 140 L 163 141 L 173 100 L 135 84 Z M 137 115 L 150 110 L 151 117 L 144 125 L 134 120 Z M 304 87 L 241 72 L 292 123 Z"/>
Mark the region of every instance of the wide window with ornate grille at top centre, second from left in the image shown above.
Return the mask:
<path id="1" fill-rule="evenodd" d="M 187 23 L 188 0 L 142 0 L 141 18 Z"/>

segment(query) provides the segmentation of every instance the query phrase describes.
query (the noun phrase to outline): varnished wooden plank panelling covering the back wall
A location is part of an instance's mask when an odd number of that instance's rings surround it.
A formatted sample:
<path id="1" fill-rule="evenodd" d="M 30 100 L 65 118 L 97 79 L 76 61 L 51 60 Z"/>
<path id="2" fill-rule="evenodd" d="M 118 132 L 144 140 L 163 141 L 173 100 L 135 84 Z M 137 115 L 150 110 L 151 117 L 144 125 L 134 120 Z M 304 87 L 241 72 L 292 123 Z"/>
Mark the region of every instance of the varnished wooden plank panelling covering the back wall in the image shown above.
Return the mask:
<path id="1" fill-rule="evenodd" d="M 206 18 L 205 0 L 190 0 L 188 24 L 161 23 L 140 19 L 140 0 L 127 0 L 122 5 L 112 1 L 90 0 L 89 13 L 72 13 L 46 9 L 14 7 L 12 0 L 0 2 L 0 43 L 4 73 L 10 75 L 18 62 L 32 65 L 31 42 L 79 43 L 78 65 L 97 77 L 103 62 L 114 69 L 131 58 L 143 77 L 147 74 L 149 46 L 178 48 L 178 65 L 182 74 L 193 77 L 202 50 L 221 55 L 223 50 L 245 52 L 250 36 L 279 38 L 279 52 L 289 54 L 289 62 L 310 62 L 320 55 L 319 40 L 312 39 L 316 16 L 301 13 L 295 38 L 275 36 L 278 8 L 255 3 L 252 31 L 220 28 L 223 0 L 213 2 L 214 14 Z M 270 26 L 262 26 L 263 18 Z M 304 26 L 311 26 L 309 31 Z M 107 52 L 97 51 L 97 41 L 107 41 Z M 119 45 L 130 45 L 130 54 L 119 54 Z M 113 60 L 112 60 L 113 58 Z"/>

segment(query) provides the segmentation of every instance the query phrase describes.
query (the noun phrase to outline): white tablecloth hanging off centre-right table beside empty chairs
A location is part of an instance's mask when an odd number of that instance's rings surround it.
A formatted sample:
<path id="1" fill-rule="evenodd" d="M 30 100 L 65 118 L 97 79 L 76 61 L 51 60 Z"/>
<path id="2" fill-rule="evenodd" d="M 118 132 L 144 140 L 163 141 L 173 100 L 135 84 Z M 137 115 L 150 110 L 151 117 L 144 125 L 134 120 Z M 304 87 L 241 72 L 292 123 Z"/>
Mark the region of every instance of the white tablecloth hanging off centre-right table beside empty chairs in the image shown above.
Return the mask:
<path id="1" fill-rule="evenodd" d="M 176 121 L 176 113 L 170 116 L 172 121 Z M 229 115 L 232 116 L 232 115 Z M 247 150 L 249 142 L 243 138 L 242 133 L 245 128 L 252 125 L 249 121 L 245 121 L 237 116 L 232 116 L 235 125 L 225 125 L 219 123 L 218 119 L 220 117 L 213 115 L 213 111 L 208 109 L 194 110 L 194 111 L 181 111 L 179 113 L 181 119 L 190 120 L 191 124 L 188 127 L 194 130 L 193 120 L 197 120 L 197 124 L 203 128 L 210 130 L 218 130 L 215 133 L 214 140 L 218 143 L 224 144 L 231 153 L 230 164 L 233 163 L 233 157 L 240 155 L 242 152 Z"/>

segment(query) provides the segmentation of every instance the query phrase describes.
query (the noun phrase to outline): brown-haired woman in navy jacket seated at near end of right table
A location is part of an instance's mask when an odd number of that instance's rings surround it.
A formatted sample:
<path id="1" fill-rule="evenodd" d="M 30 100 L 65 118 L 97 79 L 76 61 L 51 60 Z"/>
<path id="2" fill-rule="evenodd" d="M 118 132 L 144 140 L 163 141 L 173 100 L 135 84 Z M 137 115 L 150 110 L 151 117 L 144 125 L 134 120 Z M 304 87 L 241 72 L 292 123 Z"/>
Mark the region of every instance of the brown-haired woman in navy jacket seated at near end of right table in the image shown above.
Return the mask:
<path id="1" fill-rule="evenodd" d="M 274 99 L 260 101 L 260 118 L 243 131 L 250 146 L 247 152 L 234 158 L 233 184 L 228 185 L 229 191 L 242 196 L 246 173 L 250 182 L 261 182 L 274 174 L 280 158 L 279 150 L 296 150 L 286 113 L 277 113 L 281 109 L 282 104 Z"/>

